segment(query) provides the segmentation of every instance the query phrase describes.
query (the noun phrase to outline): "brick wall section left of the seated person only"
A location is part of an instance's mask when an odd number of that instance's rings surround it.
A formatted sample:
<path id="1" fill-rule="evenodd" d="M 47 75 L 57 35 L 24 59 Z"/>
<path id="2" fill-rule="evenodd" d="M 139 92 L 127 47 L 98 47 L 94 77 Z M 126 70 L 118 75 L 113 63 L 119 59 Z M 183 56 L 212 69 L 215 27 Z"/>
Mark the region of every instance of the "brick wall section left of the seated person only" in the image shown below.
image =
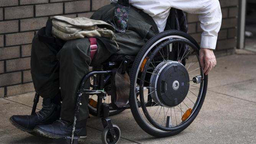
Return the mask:
<path id="1" fill-rule="evenodd" d="M 0 0 L 0 97 L 34 91 L 31 41 L 54 15 L 90 17 L 109 0 Z"/>

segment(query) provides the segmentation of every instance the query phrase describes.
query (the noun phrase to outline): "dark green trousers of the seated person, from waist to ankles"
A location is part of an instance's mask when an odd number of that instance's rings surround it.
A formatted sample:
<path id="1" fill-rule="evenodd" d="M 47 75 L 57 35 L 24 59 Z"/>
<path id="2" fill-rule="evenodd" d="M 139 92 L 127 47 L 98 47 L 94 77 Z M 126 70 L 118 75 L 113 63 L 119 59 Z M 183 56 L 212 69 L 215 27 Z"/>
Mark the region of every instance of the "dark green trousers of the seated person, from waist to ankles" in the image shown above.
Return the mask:
<path id="1" fill-rule="evenodd" d="M 107 5 L 95 11 L 94 20 L 111 21 L 115 5 Z M 67 41 L 63 47 L 42 43 L 38 35 L 33 39 L 31 50 L 31 75 L 35 90 L 43 98 L 54 98 L 61 88 L 61 118 L 73 121 L 77 90 L 82 77 L 89 72 L 89 65 L 98 65 L 106 61 L 113 53 L 120 55 L 136 55 L 146 41 L 158 33 L 154 20 L 141 10 L 130 9 L 129 29 L 126 33 L 116 33 L 116 41 L 120 51 L 116 52 L 116 44 L 109 41 L 110 47 L 104 47 L 98 41 L 98 50 L 91 60 L 90 42 L 87 38 Z M 78 120 L 89 116 L 88 97 L 83 97 Z"/>

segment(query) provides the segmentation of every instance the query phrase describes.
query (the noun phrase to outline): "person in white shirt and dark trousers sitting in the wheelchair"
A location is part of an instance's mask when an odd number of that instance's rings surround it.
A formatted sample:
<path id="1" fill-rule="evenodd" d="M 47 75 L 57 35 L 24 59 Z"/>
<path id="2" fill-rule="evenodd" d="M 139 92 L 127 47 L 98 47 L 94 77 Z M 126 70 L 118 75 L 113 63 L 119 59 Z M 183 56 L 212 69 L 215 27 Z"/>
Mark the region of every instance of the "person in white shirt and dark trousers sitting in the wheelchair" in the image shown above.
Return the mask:
<path id="1" fill-rule="evenodd" d="M 218 0 L 130 0 L 130 4 L 128 3 L 126 7 L 128 16 L 121 18 L 125 23 L 123 27 L 118 27 L 120 24 L 118 25 L 115 21 L 115 17 L 120 16 L 117 13 L 118 0 L 110 1 L 113 4 L 95 11 L 91 19 L 102 20 L 116 26 L 115 40 L 119 49 L 115 41 L 97 38 L 97 43 L 95 43 L 97 51 L 92 59 L 90 57 L 92 42 L 89 38 L 65 41 L 61 45 L 40 41 L 38 34 L 34 36 L 31 50 L 31 75 L 36 92 L 43 97 L 43 108 L 32 115 L 12 116 L 10 121 L 13 125 L 23 131 L 29 133 L 35 131 L 49 138 L 70 136 L 77 90 L 81 79 L 89 73 L 89 66 L 97 67 L 110 61 L 120 62 L 127 55 L 135 57 L 150 38 L 159 32 L 176 29 L 177 26 L 171 26 L 171 15 L 169 15 L 171 8 L 199 15 L 200 26 L 203 29 L 199 61 L 204 68 L 203 73 L 208 75 L 216 65 L 213 49 L 216 46 L 222 20 Z M 125 0 L 119 0 L 119 4 L 122 2 Z M 183 29 L 179 28 L 179 30 Z M 163 55 L 166 56 L 166 54 Z M 120 60 L 117 59 L 118 57 L 121 57 Z M 179 56 L 177 57 L 179 59 Z M 134 58 L 130 62 L 133 61 Z M 151 73 L 154 72 L 151 71 Z M 85 87 L 90 88 L 89 81 L 85 83 Z M 85 138 L 87 136 L 88 100 L 88 96 L 83 96 L 80 102 L 80 110 L 76 117 L 75 137 Z"/>

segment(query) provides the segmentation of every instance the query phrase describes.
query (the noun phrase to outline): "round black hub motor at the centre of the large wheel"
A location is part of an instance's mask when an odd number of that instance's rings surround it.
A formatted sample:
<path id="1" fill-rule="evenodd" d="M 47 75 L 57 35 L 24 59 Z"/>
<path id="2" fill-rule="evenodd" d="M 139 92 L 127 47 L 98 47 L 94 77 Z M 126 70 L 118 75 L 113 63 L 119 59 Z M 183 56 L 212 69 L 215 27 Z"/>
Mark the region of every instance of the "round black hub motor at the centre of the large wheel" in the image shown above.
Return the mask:
<path id="1" fill-rule="evenodd" d="M 189 73 L 180 62 L 161 62 L 150 79 L 150 93 L 159 105 L 179 105 L 189 92 Z"/>

